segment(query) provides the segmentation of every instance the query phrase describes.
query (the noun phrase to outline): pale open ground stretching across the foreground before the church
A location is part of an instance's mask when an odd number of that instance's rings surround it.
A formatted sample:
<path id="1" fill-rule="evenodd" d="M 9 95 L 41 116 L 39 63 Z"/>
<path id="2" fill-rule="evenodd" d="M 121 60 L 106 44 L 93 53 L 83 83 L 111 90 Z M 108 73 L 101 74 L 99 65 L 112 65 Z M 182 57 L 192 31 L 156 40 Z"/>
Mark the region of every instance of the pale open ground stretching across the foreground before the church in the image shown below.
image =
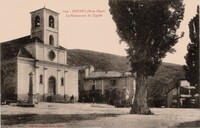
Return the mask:
<path id="1" fill-rule="evenodd" d="M 142 128 L 200 127 L 199 109 L 152 108 L 155 115 L 130 115 L 130 108 L 103 104 L 40 103 L 35 108 L 1 106 L 2 127 Z"/>

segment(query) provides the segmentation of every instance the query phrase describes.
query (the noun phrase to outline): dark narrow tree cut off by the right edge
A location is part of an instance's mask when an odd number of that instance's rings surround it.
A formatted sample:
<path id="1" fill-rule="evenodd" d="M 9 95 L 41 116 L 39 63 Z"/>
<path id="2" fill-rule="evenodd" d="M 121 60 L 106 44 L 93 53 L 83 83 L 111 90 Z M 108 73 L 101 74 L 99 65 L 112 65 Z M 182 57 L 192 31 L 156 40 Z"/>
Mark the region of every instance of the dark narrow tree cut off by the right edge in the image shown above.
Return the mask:
<path id="1" fill-rule="evenodd" d="M 189 32 L 191 42 L 187 46 L 188 53 L 185 56 L 187 66 L 186 79 L 192 84 L 199 82 L 199 7 L 197 14 L 189 22 Z"/>

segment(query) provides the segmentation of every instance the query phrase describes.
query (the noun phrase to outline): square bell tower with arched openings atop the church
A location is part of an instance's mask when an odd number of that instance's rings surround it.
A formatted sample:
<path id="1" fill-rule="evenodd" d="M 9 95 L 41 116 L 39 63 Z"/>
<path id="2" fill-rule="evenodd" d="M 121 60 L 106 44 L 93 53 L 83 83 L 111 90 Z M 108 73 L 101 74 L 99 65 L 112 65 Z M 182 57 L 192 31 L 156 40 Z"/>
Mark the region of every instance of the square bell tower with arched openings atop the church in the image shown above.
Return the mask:
<path id="1" fill-rule="evenodd" d="M 38 37 L 44 44 L 58 47 L 58 15 L 45 7 L 31 12 L 31 38 Z"/>

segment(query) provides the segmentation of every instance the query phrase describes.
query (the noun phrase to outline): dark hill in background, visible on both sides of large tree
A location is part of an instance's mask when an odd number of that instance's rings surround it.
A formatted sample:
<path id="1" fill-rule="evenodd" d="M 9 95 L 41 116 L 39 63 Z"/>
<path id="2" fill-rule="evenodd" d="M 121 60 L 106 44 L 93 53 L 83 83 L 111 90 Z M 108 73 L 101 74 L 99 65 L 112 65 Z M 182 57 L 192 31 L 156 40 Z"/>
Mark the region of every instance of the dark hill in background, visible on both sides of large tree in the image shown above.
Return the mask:
<path id="1" fill-rule="evenodd" d="M 72 66 L 93 65 L 95 69 L 107 71 L 130 71 L 125 56 L 89 50 L 68 50 L 68 63 Z M 159 106 L 160 101 L 165 102 L 165 94 L 177 85 L 179 79 L 184 78 L 182 65 L 162 63 L 154 77 L 148 79 L 148 99 L 151 106 Z"/>

